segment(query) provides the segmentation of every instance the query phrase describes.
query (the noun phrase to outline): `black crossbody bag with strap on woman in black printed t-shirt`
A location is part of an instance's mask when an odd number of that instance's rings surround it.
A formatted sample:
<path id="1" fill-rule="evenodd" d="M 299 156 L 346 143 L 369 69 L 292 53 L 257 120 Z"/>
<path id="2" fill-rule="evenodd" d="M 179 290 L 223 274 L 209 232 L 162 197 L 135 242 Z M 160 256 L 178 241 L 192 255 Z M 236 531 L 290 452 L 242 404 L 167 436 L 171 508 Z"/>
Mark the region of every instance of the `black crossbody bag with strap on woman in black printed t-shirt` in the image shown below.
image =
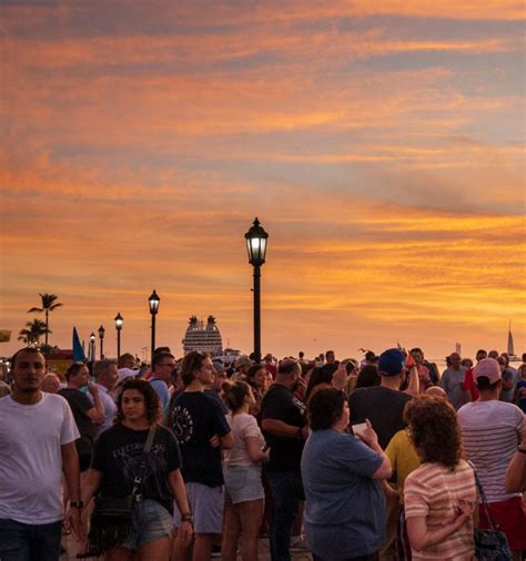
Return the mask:
<path id="1" fill-rule="evenodd" d="M 143 449 L 143 456 L 148 456 L 152 448 L 155 427 L 151 427 Z M 142 465 L 144 466 L 145 462 Z M 133 480 L 133 489 L 124 497 L 111 497 L 99 494 L 95 497 L 95 508 L 90 519 L 90 532 L 88 540 L 92 551 L 101 554 L 112 548 L 124 543 L 134 533 L 133 511 L 136 502 L 142 500 L 139 494 L 145 468 L 136 473 Z"/>

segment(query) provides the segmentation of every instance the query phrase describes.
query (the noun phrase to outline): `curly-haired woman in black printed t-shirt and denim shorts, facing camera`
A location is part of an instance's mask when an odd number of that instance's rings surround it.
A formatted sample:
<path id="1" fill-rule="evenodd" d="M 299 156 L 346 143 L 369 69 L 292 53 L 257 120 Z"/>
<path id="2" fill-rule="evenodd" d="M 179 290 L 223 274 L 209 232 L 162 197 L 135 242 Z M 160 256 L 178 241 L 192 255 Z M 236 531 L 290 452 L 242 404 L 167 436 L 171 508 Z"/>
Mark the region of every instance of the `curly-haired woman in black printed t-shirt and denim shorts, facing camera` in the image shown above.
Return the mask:
<path id="1" fill-rule="evenodd" d="M 111 561 L 170 559 L 173 530 L 173 500 L 186 513 L 180 532 L 186 542 L 192 537 L 181 459 L 172 431 L 159 426 L 159 398 L 148 381 L 128 379 L 117 401 L 115 425 L 95 441 L 93 461 L 88 472 L 82 501 L 88 504 L 101 497 L 125 498 L 134 491 L 132 523 L 117 519 L 99 529 L 99 543 Z M 150 450 L 144 450 L 154 427 Z M 92 529 L 93 530 L 93 529 Z M 93 541 L 93 533 L 91 534 Z"/>

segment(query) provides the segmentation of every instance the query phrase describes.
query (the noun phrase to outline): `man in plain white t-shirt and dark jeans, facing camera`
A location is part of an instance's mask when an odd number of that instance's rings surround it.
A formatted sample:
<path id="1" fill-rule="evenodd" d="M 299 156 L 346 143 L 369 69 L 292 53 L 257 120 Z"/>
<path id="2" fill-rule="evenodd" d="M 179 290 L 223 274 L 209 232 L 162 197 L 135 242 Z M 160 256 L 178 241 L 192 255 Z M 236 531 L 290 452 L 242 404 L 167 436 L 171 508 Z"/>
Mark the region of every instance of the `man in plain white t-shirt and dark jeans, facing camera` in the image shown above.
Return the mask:
<path id="1" fill-rule="evenodd" d="M 62 472 L 71 497 L 68 522 L 81 539 L 79 431 L 65 399 L 40 390 L 45 359 L 24 348 L 11 359 L 13 392 L 0 399 L 0 559 L 58 560 L 64 510 Z"/>

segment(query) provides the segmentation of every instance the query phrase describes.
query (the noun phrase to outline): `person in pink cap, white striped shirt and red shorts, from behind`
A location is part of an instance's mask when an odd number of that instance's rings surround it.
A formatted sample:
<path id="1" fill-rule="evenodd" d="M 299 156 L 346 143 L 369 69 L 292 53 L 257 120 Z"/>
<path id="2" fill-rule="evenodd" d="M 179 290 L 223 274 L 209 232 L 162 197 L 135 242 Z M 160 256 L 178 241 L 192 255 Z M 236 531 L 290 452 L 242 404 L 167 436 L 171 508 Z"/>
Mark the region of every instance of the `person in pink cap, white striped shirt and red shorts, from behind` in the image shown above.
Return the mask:
<path id="1" fill-rule="evenodd" d="M 506 533 L 510 549 L 518 552 L 526 549 L 526 510 L 520 493 L 506 492 L 505 480 L 520 442 L 524 414 L 499 401 L 503 382 L 497 360 L 484 358 L 473 373 L 481 397 L 458 410 L 464 457 L 475 466 L 492 517 Z M 482 508 L 479 520 L 479 527 L 487 528 Z"/>

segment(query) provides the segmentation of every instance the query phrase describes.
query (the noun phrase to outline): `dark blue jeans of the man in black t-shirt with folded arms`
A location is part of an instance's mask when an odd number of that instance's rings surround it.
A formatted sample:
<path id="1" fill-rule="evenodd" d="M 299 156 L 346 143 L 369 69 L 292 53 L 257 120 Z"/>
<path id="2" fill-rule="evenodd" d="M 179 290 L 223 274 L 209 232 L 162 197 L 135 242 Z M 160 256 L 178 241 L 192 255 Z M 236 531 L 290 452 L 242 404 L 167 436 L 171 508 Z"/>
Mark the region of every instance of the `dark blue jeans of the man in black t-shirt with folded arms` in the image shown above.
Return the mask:
<path id="1" fill-rule="evenodd" d="M 297 471 L 267 471 L 266 479 L 272 492 L 271 510 L 271 559 L 291 561 L 289 551 L 292 524 L 296 518 L 297 506 L 303 500 L 303 483 Z"/>

